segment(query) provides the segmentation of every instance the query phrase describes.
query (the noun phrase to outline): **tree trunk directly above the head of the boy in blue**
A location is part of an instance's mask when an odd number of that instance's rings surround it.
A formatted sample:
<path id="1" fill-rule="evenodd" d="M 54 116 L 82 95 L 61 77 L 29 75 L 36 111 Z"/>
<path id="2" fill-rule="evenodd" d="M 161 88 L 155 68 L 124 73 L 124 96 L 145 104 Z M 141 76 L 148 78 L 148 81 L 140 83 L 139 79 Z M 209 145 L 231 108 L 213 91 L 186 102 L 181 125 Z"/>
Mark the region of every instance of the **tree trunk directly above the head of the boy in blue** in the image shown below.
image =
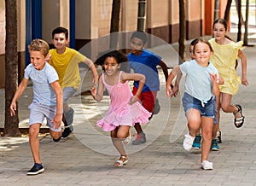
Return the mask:
<path id="1" fill-rule="evenodd" d="M 146 31 L 146 0 L 139 0 L 137 13 L 137 31 Z"/>

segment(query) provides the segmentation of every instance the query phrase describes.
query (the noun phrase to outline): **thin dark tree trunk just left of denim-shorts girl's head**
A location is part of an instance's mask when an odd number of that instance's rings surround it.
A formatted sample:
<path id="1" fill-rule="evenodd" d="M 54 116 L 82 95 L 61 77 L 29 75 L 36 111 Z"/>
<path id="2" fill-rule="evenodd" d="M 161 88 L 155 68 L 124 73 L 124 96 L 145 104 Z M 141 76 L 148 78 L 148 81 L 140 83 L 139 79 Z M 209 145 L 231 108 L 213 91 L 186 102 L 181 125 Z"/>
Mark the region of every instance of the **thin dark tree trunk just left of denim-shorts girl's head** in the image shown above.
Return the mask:
<path id="1" fill-rule="evenodd" d="M 179 38 L 178 38 L 178 55 L 180 59 L 178 64 L 185 61 L 185 3 L 184 0 L 179 0 Z"/>

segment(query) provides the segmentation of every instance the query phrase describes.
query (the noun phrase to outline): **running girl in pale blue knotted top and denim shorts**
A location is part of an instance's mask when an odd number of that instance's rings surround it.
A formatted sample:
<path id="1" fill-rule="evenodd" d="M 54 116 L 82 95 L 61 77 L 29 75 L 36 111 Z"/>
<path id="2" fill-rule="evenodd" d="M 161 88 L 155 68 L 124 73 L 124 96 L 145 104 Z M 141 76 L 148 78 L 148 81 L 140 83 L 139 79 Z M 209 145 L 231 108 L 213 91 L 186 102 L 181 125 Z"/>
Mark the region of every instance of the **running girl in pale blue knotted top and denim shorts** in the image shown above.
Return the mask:
<path id="1" fill-rule="evenodd" d="M 202 149 L 201 167 L 212 170 L 208 155 L 212 142 L 213 102 L 212 96 L 218 96 L 218 70 L 209 61 L 212 55 L 211 44 L 205 39 L 195 41 L 195 60 L 174 67 L 166 82 L 166 94 L 172 96 L 172 80 L 177 73 L 186 75 L 183 108 L 188 120 L 189 132 L 185 135 L 183 148 L 190 150 L 195 139 L 195 131 L 201 125 Z"/>

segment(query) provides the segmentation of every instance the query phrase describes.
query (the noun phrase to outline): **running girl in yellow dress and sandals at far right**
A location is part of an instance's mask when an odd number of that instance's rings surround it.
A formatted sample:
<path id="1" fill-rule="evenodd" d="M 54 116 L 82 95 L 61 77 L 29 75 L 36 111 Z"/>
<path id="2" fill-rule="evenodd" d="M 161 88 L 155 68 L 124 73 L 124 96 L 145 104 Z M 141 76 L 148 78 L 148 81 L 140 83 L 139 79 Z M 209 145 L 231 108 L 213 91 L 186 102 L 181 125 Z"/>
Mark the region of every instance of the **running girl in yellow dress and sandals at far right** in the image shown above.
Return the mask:
<path id="1" fill-rule="evenodd" d="M 241 105 L 231 105 L 233 95 L 236 95 L 239 84 L 248 85 L 247 81 L 247 58 L 241 52 L 242 42 L 233 42 L 225 36 L 227 32 L 227 22 L 224 19 L 215 20 L 212 26 L 214 38 L 209 42 L 212 45 L 213 55 L 211 62 L 218 69 L 219 75 L 224 79 L 224 84 L 220 84 L 220 96 L 217 97 L 218 108 L 218 131 L 219 130 L 219 110 L 225 113 L 233 113 L 234 124 L 240 128 L 244 123 L 244 116 L 241 113 Z M 236 73 L 236 60 L 241 59 L 241 78 Z M 221 142 L 221 138 L 218 137 Z"/>

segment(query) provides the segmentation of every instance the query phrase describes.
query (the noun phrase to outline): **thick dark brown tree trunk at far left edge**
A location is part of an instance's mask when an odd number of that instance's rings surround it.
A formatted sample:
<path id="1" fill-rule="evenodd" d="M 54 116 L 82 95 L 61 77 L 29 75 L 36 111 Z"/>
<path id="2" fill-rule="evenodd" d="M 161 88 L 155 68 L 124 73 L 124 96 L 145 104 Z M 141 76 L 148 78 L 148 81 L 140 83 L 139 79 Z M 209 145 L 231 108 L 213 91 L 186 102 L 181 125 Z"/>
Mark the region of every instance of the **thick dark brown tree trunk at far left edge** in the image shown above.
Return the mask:
<path id="1" fill-rule="evenodd" d="M 17 3 L 5 0 L 6 40 L 5 40 L 5 120 L 3 135 L 18 137 L 19 117 L 11 117 L 9 107 L 18 85 L 18 51 L 17 51 Z M 18 109 L 17 109 L 18 110 Z"/>

